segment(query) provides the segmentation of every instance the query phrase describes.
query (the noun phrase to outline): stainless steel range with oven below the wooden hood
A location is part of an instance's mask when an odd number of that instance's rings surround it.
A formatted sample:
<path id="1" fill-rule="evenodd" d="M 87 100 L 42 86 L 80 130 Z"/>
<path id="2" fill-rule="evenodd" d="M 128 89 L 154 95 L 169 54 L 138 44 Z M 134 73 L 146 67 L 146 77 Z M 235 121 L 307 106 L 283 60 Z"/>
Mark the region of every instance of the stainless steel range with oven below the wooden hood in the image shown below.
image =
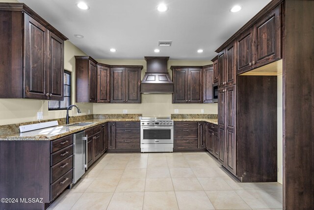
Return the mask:
<path id="1" fill-rule="evenodd" d="M 171 117 L 142 117 L 141 152 L 173 152 Z"/>

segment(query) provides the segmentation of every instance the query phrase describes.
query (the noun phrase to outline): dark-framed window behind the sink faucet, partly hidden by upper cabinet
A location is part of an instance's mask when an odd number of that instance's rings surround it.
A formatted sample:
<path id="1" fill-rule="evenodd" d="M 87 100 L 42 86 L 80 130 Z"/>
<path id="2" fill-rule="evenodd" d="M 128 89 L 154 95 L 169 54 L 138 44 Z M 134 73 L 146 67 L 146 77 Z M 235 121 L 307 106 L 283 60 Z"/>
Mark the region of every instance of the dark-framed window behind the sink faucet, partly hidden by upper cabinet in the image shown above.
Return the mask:
<path id="1" fill-rule="evenodd" d="M 63 101 L 49 101 L 49 110 L 63 110 L 71 105 L 71 72 L 64 70 L 64 99 Z"/>

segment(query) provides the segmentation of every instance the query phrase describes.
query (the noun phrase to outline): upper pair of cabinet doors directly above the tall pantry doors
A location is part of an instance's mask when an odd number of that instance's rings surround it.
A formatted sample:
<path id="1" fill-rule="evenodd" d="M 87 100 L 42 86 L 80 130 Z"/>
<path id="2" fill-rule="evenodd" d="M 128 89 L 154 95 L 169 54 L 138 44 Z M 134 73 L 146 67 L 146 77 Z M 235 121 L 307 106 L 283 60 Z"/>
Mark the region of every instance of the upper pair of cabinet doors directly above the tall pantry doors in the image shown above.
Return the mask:
<path id="1" fill-rule="evenodd" d="M 218 88 L 235 84 L 235 45 L 218 54 Z"/>

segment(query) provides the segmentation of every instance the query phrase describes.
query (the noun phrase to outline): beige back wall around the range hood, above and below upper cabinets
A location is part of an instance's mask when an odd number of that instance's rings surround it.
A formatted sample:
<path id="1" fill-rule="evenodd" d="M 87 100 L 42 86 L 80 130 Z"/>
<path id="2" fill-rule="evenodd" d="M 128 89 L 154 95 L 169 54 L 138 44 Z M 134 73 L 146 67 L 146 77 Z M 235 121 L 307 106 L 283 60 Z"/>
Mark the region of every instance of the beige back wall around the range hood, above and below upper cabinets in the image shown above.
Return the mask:
<path id="1" fill-rule="evenodd" d="M 146 72 L 146 61 L 143 60 L 97 60 L 108 65 L 142 65 L 142 78 Z M 169 60 L 170 66 L 203 66 L 211 64 L 209 60 Z M 142 94 L 141 104 L 94 104 L 94 114 L 122 114 L 126 109 L 131 114 L 143 114 L 143 116 L 170 116 L 174 109 L 179 109 L 181 114 L 200 114 L 204 109 L 205 114 L 217 114 L 217 104 L 172 104 L 171 94 Z"/>

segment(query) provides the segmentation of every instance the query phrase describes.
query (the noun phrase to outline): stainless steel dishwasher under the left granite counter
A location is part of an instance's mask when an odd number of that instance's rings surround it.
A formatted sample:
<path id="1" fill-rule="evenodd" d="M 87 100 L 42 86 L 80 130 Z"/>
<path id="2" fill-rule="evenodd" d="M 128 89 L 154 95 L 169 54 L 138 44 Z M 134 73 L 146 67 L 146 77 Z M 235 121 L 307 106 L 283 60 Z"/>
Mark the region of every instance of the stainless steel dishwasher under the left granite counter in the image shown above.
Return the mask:
<path id="1" fill-rule="evenodd" d="M 85 131 L 74 134 L 73 137 L 73 181 L 72 184 L 84 175 L 87 170 L 87 136 Z"/>

